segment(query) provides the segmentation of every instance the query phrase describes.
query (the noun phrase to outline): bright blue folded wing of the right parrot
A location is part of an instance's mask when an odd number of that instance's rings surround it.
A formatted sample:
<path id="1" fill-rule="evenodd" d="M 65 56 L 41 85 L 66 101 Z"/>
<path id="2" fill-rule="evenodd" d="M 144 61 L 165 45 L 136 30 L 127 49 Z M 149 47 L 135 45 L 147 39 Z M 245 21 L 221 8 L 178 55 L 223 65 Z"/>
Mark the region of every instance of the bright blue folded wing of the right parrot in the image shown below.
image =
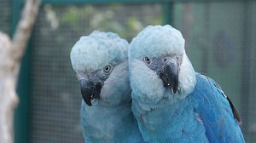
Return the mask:
<path id="1" fill-rule="evenodd" d="M 195 90 L 191 94 L 195 107 L 205 128 L 210 142 L 245 142 L 239 123 L 233 114 L 230 101 L 211 78 L 196 75 Z M 231 108 L 232 107 L 232 108 Z"/>

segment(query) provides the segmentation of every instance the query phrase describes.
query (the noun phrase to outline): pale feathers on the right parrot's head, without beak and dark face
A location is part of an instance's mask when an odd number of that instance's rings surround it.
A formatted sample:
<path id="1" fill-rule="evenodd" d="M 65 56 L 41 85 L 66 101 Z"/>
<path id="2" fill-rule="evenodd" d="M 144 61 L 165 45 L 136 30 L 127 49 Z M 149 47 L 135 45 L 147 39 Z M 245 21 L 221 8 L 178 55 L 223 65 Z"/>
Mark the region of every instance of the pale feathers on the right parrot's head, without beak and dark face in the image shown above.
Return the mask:
<path id="1" fill-rule="evenodd" d="M 165 55 L 183 55 L 178 75 L 177 94 L 170 94 L 160 77 L 145 65 L 143 58 L 161 57 Z M 148 26 L 131 41 L 129 49 L 129 67 L 131 89 L 140 92 L 137 97 L 143 101 L 156 103 L 163 98 L 174 102 L 183 99 L 195 88 L 195 71 L 185 54 L 184 39 L 180 31 L 172 26 Z"/>

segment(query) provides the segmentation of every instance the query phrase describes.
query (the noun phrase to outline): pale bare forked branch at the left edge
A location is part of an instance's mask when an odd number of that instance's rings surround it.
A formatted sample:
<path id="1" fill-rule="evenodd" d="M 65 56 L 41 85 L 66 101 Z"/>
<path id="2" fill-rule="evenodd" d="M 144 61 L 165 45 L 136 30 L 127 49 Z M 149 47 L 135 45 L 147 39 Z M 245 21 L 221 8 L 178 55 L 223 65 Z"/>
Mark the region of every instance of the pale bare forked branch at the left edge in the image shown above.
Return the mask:
<path id="1" fill-rule="evenodd" d="M 15 3 L 14 3 L 15 4 Z M 14 110 L 18 104 L 16 83 L 20 59 L 38 14 L 39 0 L 26 0 L 13 40 L 0 32 L 0 142 L 14 142 Z"/>

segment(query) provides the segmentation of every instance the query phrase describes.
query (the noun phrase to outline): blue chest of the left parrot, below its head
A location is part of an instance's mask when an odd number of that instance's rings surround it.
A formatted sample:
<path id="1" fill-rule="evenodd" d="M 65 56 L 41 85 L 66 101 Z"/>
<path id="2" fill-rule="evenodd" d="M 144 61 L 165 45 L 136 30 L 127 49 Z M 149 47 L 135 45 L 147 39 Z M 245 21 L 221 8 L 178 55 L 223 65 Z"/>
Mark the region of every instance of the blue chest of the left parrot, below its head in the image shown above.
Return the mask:
<path id="1" fill-rule="evenodd" d="M 139 134 L 130 105 L 82 106 L 81 122 L 89 142 L 122 142 Z"/>

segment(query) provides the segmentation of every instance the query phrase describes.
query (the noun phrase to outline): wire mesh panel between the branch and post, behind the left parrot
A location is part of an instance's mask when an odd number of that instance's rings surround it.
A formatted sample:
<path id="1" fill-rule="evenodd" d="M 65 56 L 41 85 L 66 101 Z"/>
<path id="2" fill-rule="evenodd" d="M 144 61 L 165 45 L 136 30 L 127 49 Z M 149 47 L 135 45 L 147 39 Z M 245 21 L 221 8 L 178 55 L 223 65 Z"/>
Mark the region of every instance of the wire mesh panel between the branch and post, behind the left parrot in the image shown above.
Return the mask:
<path id="1" fill-rule="evenodd" d="M 30 140 L 84 140 L 79 123 L 82 96 L 69 58 L 80 36 L 113 31 L 131 40 L 144 26 L 162 21 L 160 4 L 44 5 L 32 34 Z"/>

